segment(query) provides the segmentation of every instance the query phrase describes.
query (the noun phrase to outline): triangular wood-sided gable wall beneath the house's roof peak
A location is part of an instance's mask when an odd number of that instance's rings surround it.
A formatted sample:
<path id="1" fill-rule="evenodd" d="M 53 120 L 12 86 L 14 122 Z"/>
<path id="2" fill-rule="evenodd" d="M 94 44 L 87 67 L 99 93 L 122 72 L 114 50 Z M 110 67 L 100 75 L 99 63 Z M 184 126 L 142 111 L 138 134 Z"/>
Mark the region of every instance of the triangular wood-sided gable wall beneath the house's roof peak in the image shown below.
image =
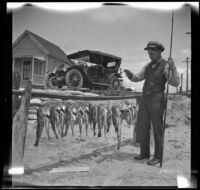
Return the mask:
<path id="1" fill-rule="evenodd" d="M 44 53 L 30 40 L 28 36 L 13 49 L 13 57 L 32 57 L 33 55 L 44 55 Z"/>

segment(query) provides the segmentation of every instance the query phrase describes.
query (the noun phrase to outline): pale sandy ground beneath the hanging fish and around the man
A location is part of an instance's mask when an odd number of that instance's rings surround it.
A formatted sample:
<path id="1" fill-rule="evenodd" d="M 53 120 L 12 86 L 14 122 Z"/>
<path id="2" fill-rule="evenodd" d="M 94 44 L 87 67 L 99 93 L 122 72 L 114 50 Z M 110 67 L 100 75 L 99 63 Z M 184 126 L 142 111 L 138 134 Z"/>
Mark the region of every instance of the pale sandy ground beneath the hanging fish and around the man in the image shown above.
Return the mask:
<path id="1" fill-rule="evenodd" d="M 185 96 L 168 101 L 162 168 L 147 165 L 147 160 L 134 160 L 140 149 L 132 143 L 133 126 L 128 128 L 125 121 L 120 150 L 113 126 L 107 140 L 103 135 L 94 137 L 91 128 L 88 139 L 80 140 L 77 126 L 75 137 L 69 130 L 67 137 L 56 140 L 51 132 L 50 142 L 43 130 L 39 146 L 34 147 L 36 122 L 32 121 L 26 135 L 25 174 L 13 181 L 45 186 L 177 186 L 178 175 L 190 180 L 190 102 Z M 153 155 L 153 138 L 151 142 Z M 49 173 L 53 168 L 70 166 L 88 166 L 89 171 Z"/>

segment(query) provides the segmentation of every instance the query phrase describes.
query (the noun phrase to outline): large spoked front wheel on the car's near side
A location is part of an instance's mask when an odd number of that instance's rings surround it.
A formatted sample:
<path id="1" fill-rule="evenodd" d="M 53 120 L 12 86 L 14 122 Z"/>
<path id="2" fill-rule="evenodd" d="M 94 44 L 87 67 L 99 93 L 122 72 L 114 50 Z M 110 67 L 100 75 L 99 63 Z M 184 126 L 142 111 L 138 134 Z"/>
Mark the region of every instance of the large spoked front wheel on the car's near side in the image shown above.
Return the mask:
<path id="1" fill-rule="evenodd" d="M 71 69 L 65 75 L 65 82 L 69 89 L 80 89 L 83 86 L 83 76 L 77 69 Z"/>

